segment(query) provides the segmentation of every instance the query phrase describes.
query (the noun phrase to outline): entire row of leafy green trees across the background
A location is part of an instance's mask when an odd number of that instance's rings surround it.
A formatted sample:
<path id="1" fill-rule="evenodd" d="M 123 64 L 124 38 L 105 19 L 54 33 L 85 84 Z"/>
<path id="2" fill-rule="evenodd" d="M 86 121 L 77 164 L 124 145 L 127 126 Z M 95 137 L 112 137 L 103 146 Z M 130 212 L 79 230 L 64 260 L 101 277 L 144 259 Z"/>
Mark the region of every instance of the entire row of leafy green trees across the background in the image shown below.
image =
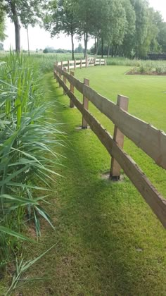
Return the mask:
<path id="1" fill-rule="evenodd" d="M 42 20 L 51 37 L 60 32 L 84 39 L 84 56 L 89 38 L 94 54 L 146 56 L 148 51 L 166 51 L 166 23 L 148 0 L 3 0 L 0 3 L 0 38 L 4 16 L 15 25 L 15 49 L 20 51 L 20 23 L 27 27 Z"/>

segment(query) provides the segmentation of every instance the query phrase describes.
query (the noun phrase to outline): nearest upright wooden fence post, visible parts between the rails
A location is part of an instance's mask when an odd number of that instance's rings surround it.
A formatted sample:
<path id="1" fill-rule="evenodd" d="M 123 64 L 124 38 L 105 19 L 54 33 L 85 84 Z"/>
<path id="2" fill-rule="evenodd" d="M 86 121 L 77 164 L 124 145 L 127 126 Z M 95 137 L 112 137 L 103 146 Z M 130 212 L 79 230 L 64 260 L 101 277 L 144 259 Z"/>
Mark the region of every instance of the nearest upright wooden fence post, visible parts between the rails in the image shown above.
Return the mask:
<path id="1" fill-rule="evenodd" d="M 129 98 L 121 96 L 118 94 L 117 96 L 117 106 L 119 106 L 121 109 L 127 111 L 128 110 L 128 104 L 129 104 Z M 114 128 L 114 135 L 113 135 L 113 140 L 123 148 L 124 144 L 124 135 L 122 132 L 115 126 Z M 111 180 L 120 180 L 120 170 L 121 167 L 115 160 L 115 158 L 112 157 L 111 159 L 111 166 L 110 166 L 110 179 Z"/>

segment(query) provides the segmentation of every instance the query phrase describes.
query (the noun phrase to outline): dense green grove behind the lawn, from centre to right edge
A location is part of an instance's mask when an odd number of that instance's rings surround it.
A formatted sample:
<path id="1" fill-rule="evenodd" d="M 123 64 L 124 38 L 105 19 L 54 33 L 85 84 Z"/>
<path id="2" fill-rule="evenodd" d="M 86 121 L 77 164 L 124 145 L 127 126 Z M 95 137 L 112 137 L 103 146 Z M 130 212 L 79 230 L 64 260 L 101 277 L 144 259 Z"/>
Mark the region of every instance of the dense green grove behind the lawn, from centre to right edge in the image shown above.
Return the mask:
<path id="1" fill-rule="evenodd" d="M 108 56 L 111 52 L 112 56 L 131 57 L 133 49 L 137 58 L 148 51 L 165 50 L 165 23 L 146 0 L 50 1 L 44 26 L 52 36 L 60 32 L 70 35 L 72 58 L 74 35 L 84 39 L 84 56 L 89 37 L 95 38 L 96 55 L 103 56 L 104 47 Z"/>

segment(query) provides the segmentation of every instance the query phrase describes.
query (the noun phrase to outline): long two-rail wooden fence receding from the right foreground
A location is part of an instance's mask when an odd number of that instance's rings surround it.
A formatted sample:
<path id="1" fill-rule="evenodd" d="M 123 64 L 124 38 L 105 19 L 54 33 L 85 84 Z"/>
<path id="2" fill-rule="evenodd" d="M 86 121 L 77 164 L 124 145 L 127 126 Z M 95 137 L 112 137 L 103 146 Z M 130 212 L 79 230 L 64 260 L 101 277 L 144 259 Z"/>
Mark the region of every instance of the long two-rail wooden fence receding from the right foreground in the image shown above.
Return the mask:
<path id="1" fill-rule="evenodd" d="M 166 169 L 166 134 L 127 113 L 127 97 L 118 95 L 117 104 L 114 104 L 91 89 L 89 80 L 84 79 L 84 82 L 80 82 L 74 77 L 74 72 L 69 74 L 66 72 L 66 68 L 63 69 L 61 66 L 55 65 L 54 78 L 63 87 L 65 94 L 68 94 L 70 107 L 76 106 L 82 113 L 82 128 L 87 128 L 87 124 L 89 124 L 91 130 L 94 131 L 110 156 L 112 156 L 110 177 L 118 179 L 120 177 L 120 168 L 122 168 L 166 228 L 166 199 L 155 189 L 134 160 L 122 150 L 125 135 L 143 152 L 151 156 L 155 164 Z M 70 82 L 70 89 L 66 85 L 66 80 Z M 75 88 L 83 94 L 83 103 L 75 97 Z M 89 112 L 89 101 L 113 121 L 115 124 L 114 137 Z"/>

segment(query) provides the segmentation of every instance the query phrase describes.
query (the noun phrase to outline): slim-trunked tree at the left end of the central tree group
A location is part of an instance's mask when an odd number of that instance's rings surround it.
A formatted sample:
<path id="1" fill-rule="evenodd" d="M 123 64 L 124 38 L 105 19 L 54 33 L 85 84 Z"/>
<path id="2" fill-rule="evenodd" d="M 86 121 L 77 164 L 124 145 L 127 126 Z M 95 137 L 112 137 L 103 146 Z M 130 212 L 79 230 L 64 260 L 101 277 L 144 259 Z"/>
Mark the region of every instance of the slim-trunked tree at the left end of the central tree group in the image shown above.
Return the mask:
<path id="1" fill-rule="evenodd" d="M 55 0 L 49 3 L 49 11 L 44 18 L 44 27 L 51 32 L 51 36 L 59 35 L 60 32 L 71 37 L 72 59 L 74 56 L 74 36 L 77 33 L 77 0 Z"/>

